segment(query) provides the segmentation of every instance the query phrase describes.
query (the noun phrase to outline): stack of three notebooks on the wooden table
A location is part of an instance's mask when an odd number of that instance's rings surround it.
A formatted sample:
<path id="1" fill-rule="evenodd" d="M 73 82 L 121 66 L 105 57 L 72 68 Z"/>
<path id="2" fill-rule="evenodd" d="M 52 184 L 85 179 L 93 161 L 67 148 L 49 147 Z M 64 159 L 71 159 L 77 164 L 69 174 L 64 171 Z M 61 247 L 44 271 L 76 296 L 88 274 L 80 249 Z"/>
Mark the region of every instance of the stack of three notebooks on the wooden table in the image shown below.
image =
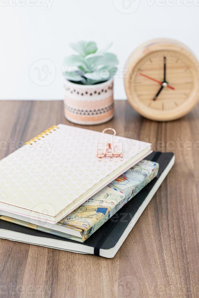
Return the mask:
<path id="1" fill-rule="evenodd" d="M 99 158 L 103 142 L 102 133 L 59 124 L 0 161 L 0 237 L 113 257 L 174 156 L 115 136 L 122 157 Z"/>

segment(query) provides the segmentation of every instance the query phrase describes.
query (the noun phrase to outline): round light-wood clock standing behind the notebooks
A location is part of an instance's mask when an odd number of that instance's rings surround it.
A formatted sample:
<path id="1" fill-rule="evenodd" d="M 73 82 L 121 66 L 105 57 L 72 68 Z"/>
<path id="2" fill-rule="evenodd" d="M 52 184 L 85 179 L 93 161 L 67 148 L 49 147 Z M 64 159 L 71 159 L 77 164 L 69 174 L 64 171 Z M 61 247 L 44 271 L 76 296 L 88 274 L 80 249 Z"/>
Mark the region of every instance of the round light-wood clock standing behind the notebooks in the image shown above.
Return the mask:
<path id="1" fill-rule="evenodd" d="M 199 63 L 183 43 L 150 40 L 131 53 L 124 86 L 131 106 L 157 121 L 180 118 L 199 100 Z"/>

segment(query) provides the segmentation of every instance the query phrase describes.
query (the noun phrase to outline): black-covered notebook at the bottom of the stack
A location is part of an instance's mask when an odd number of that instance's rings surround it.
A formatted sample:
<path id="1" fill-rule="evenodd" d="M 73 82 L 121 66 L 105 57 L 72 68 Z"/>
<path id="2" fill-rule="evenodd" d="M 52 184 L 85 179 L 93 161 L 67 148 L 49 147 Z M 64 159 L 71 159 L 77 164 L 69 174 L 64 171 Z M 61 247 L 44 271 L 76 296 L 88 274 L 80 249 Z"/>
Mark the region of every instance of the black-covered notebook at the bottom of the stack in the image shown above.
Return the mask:
<path id="1" fill-rule="evenodd" d="M 0 238 L 76 253 L 89 253 L 113 258 L 175 161 L 173 153 L 161 152 L 152 152 L 145 159 L 159 163 L 157 177 L 115 213 L 113 217 L 103 224 L 84 243 L 33 230 L 4 220 L 0 221 Z"/>

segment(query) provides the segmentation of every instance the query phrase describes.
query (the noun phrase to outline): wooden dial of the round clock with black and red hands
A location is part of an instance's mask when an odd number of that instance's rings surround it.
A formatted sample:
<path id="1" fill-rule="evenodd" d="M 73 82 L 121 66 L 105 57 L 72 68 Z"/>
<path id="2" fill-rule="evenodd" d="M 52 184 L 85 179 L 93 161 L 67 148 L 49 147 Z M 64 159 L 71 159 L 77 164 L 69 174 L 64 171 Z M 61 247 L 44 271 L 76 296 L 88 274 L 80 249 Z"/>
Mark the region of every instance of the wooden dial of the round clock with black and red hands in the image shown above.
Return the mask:
<path id="1" fill-rule="evenodd" d="M 150 109 L 176 109 L 189 101 L 194 92 L 194 74 L 189 64 L 179 52 L 157 51 L 149 54 L 134 69 L 132 92 L 138 101 Z M 162 87 L 160 83 L 165 86 Z"/>

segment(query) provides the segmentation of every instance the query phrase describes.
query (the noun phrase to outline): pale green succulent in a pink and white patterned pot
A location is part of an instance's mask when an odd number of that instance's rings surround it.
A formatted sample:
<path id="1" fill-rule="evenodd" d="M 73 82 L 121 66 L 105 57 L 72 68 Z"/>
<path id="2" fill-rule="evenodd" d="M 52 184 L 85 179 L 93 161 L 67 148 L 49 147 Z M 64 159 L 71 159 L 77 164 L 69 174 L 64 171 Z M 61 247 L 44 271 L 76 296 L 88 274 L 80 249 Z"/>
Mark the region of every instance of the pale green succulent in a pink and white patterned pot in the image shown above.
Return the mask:
<path id="1" fill-rule="evenodd" d="M 77 124 L 100 124 L 113 117 L 113 75 L 117 56 L 93 41 L 70 45 L 78 54 L 64 60 L 65 117 Z"/>

